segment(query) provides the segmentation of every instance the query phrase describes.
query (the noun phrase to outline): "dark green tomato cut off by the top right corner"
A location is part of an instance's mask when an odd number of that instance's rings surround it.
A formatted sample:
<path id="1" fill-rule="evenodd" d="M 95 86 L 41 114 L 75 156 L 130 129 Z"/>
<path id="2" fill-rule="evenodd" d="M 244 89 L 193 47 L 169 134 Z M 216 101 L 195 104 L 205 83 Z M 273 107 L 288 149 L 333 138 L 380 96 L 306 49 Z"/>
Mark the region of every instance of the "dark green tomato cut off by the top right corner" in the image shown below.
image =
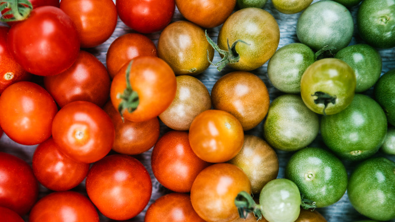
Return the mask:
<path id="1" fill-rule="evenodd" d="M 369 45 L 389 49 L 395 46 L 395 0 L 367 0 L 357 13 L 358 33 Z"/>

